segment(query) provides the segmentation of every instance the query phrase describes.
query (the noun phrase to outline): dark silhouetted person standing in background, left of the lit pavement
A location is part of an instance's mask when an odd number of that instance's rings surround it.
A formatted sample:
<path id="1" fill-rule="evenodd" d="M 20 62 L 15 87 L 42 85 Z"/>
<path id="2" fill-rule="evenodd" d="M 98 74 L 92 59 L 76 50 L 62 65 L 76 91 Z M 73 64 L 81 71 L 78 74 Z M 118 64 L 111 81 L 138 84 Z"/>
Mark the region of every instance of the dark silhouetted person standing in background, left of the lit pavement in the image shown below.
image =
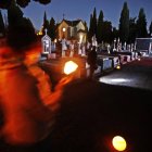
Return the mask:
<path id="1" fill-rule="evenodd" d="M 87 63 L 90 65 L 89 79 L 92 79 L 94 71 L 98 68 L 98 65 L 97 65 L 97 51 L 96 51 L 94 46 L 90 49 L 90 51 L 88 51 Z"/>

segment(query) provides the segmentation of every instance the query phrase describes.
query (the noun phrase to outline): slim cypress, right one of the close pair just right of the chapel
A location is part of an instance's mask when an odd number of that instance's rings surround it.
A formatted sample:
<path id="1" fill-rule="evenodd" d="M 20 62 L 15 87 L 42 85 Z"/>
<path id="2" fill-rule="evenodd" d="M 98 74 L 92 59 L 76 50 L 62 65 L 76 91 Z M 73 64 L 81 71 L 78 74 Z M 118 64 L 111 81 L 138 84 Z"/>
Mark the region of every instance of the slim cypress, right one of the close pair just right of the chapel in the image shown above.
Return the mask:
<path id="1" fill-rule="evenodd" d="M 101 10 L 99 13 L 98 23 L 97 23 L 97 41 L 98 41 L 98 43 L 101 43 L 103 40 L 102 27 L 103 27 L 103 12 Z"/>

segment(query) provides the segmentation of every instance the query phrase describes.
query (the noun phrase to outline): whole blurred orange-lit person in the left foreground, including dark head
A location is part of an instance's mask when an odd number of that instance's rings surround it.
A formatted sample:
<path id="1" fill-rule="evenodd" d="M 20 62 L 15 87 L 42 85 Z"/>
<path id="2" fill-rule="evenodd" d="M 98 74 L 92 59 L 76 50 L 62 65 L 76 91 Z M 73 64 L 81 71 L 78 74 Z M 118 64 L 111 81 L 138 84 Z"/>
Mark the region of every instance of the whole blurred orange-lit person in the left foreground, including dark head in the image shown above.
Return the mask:
<path id="1" fill-rule="evenodd" d="M 11 152 L 47 152 L 45 141 L 71 78 L 51 91 L 49 76 L 38 66 L 41 46 L 28 20 L 10 28 L 7 45 L 0 50 L 0 151 L 10 147 Z"/>

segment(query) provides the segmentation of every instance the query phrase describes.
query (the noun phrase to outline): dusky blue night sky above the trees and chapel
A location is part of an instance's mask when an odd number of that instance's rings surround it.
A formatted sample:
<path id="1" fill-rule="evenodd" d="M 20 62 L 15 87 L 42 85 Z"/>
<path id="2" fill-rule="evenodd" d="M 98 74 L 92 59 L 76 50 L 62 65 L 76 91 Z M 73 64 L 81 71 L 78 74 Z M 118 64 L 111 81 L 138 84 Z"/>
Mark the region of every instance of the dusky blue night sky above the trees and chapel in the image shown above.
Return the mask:
<path id="1" fill-rule="evenodd" d="M 103 11 L 104 20 L 111 21 L 114 27 L 118 27 L 121 12 L 125 0 L 52 0 L 48 5 L 30 2 L 26 9 L 22 9 L 24 16 L 29 17 L 34 26 L 39 29 L 42 25 L 43 13 L 47 17 L 54 17 L 55 22 L 61 22 L 63 14 L 66 20 L 81 18 L 89 24 L 90 14 L 93 8 L 97 9 L 97 16 L 100 10 Z M 140 8 L 144 9 L 148 28 L 152 21 L 152 0 L 126 0 L 130 17 L 138 17 Z"/>

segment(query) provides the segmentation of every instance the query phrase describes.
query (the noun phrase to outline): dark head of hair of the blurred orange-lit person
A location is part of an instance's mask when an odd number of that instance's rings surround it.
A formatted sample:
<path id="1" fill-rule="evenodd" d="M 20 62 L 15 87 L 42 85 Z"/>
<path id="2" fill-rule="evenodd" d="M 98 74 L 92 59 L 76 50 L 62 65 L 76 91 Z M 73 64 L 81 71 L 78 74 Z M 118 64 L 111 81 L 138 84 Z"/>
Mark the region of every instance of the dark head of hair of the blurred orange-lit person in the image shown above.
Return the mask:
<path id="1" fill-rule="evenodd" d="M 23 18 L 20 23 L 9 27 L 7 36 L 8 45 L 15 52 L 25 52 L 36 42 L 37 36 L 35 34 L 31 22 Z"/>

